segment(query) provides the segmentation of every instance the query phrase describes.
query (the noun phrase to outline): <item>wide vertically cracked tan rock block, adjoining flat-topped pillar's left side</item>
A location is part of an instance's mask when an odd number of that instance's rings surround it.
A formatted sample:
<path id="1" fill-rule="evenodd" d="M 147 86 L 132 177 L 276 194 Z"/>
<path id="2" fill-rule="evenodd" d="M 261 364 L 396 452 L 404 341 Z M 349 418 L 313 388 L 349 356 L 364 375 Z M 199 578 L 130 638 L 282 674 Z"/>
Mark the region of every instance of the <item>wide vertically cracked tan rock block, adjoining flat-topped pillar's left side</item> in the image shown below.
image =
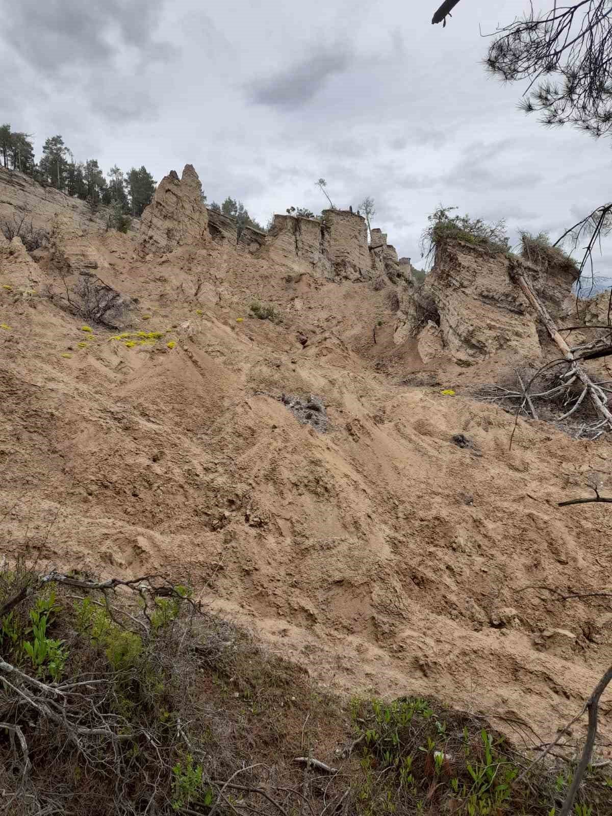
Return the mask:
<path id="1" fill-rule="evenodd" d="M 295 272 L 331 277 L 330 232 L 317 219 L 275 215 L 259 257 Z"/>

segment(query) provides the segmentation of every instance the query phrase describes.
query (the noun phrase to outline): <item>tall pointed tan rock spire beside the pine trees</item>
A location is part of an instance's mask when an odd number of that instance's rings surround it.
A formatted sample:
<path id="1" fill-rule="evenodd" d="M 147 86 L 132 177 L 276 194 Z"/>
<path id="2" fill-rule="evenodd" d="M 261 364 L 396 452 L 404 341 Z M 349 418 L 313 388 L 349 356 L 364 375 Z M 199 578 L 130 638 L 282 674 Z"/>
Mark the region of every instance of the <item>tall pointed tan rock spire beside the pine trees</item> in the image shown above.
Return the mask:
<path id="1" fill-rule="evenodd" d="M 193 165 L 186 164 L 180 178 L 172 170 L 157 185 L 153 201 L 140 219 L 139 252 L 158 255 L 178 246 L 203 246 L 209 241 L 202 184 Z"/>

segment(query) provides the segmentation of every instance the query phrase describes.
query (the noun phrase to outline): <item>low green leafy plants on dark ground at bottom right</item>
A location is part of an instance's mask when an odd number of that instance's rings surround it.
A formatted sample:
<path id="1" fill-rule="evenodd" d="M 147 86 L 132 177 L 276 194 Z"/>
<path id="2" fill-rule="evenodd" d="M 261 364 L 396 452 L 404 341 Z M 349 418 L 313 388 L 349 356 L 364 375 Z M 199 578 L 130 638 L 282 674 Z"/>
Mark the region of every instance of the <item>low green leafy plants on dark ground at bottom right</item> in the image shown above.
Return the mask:
<path id="1" fill-rule="evenodd" d="M 516 755 L 477 717 L 422 698 L 354 699 L 351 715 L 361 741 L 354 788 L 360 816 L 425 808 L 460 816 L 548 816 L 548 781 L 542 787 L 542 778 L 529 774 L 517 785 L 522 766 Z M 538 797 L 543 804 L 536 809 Z"/>

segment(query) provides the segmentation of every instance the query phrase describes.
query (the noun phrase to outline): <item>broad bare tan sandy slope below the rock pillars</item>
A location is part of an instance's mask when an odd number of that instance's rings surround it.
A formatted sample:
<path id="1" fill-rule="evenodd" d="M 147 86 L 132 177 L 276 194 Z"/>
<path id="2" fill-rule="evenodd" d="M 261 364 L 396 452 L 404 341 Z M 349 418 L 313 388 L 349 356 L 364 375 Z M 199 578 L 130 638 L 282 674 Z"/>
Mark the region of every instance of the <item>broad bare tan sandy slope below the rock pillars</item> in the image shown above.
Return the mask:
<path id="1" fill-rule="evenodd" d="M 610 510 L 557 508 L 589 468 L 609 470 L 609 443 L 521 421 L 509 451 L 512 417 L 461 396 L 508 360 L 424 366 L 414 340 L 393 343 L 388 290 L 288 282 L 215 247 L 143 261 L 109 235 L 99 251 L 101 277 L 139 298 L 131 330 L 167 334 L 89 339 L 41 294 L 47 259 L 5 255 L 2 548 L 186 576 L 326 684 L 434 694 L 555 734 L 610 663 L 612 623 L 526 587 L 610 585 Z M 247 317 L 254 299 L 282 325 Z M 322 397 L 331 431 L 300 425 L 282 392 Z M 516 617 L 492 626 L 507 607 Z M 552 628 L 575 638 L 541 636 Z"/>

